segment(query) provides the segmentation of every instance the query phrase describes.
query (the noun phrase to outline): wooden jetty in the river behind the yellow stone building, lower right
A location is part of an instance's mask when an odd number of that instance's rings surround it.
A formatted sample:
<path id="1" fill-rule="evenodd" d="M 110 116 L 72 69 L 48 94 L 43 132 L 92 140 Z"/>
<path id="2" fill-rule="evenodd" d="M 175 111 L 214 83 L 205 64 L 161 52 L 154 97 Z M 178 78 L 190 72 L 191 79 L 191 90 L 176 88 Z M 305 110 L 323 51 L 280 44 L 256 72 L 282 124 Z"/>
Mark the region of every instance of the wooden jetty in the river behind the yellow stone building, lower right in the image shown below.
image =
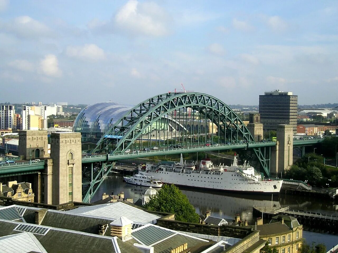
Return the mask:
<path id="1" fill-rule="evenodd" d="M 317 231 L 324 233 L 338 233 L 338 215 L 322 212 L 311 212 L 306 210 L 296 210 L 287 207 L 253 207 L 254 216 L 271 219 L 276 215 L 288 215 L 297 218 L 299 224 L 303 225 L 304 230 Z"/>

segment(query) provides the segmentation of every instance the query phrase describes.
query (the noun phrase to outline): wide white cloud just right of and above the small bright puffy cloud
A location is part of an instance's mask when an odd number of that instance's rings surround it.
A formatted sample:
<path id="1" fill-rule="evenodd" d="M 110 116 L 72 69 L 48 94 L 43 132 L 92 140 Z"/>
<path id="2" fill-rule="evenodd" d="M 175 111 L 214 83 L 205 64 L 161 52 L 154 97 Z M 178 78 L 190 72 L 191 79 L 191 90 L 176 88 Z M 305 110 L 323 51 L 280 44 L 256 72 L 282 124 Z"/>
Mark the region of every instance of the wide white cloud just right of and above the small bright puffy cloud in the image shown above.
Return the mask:
<path id="1" fill-rule="evenodd" d="M 103 60 L 105 54 L 103 49 L 99 48 L 95 44 L 85 44 L 80 46 L 69 46 L 66 49 L 66 54 L 70 57 L 89 59 L 89 60 Z"/>

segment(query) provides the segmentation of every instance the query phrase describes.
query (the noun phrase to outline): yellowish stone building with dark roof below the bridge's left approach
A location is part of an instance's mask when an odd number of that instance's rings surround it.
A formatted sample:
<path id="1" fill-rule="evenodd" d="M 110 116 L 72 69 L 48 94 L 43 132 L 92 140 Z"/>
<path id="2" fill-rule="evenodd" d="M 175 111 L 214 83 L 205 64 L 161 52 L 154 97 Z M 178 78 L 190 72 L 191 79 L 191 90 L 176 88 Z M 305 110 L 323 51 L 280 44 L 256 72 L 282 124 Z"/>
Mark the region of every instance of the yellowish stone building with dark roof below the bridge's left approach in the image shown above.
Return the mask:
<path id="1" fill-rule="evenodd" d="M 7 185 L 0 183 L 0 191 L 2 196 L 11 197 L 14 200 L 34 202 L 34 193 L 32 184 L 17 181 L 9 181 Z"/>

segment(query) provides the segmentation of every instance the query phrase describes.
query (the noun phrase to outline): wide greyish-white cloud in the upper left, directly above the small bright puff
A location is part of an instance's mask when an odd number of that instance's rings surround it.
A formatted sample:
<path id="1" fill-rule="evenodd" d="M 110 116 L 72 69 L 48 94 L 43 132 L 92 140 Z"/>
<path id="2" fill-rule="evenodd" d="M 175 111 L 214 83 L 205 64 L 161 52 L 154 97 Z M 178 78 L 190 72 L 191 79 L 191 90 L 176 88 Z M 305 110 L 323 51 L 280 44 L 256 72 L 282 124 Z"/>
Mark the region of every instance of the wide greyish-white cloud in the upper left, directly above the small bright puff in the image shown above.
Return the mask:
<path id="1" fill-rule="evenodd" d="M 38 36 L 52 36 L 50 29 L 45 24 L 29 16 L 17 17 L 10 23 L 3 23 L 2 27 L 5 31 L 13 32 L 19 37 L 36 38 Z"/>

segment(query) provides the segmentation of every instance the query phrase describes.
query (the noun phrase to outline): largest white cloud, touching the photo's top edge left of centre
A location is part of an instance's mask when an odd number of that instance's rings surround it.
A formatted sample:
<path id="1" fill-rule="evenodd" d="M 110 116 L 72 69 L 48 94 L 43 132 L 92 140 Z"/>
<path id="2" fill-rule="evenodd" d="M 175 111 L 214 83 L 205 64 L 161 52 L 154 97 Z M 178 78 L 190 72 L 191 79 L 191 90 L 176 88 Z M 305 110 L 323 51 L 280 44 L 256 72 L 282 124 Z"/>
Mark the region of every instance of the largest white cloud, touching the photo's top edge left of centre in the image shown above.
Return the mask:
<path id="1" fill-rule="evenodd" d="M 156 3 L 130 0 L 118 11 L 114 21 L 121 31 L 132 34 L 163 36 L 168 33 L 165 12 Z"/>

